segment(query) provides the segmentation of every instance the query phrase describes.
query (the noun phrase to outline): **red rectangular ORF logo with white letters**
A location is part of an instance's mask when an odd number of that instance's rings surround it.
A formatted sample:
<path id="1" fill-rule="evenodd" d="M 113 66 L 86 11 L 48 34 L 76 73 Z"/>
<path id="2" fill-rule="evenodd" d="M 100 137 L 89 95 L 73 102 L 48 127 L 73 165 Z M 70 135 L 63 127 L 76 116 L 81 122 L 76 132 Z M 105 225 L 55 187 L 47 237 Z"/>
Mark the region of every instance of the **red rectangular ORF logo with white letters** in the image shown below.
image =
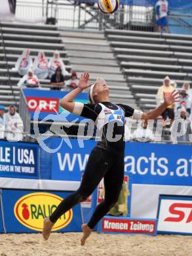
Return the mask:
<path id="1" fill-rule="evenodd" d="M 35 111 L 38 107 L 40 112 L 55 113 L 59 110 L 58 98 L 40 98 L 40 97 L 26 97 L 28 102 L 28 110 Z"/>

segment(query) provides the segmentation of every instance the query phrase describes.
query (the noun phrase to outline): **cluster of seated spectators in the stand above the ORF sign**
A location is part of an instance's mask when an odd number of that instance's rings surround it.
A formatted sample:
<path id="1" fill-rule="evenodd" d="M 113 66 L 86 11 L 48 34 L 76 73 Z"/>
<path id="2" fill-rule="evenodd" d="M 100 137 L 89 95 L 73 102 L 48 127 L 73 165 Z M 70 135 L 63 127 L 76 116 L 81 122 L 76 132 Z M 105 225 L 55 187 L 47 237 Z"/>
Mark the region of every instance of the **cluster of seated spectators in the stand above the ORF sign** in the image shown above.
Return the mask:
<path id="1" fill-rule="evenodd" d="M 18 82 L 19 87 L 38 88 L 41 87 L 39 79 L 50 79 L 51 90 L 71 91 L 78 83 L 77 73 L 67 72 L 58 51 L 49 61 L 41 51 L 33 62 L 29 49 L 25 49 L 16 61 L 14 70 L 22 77 Z"/>

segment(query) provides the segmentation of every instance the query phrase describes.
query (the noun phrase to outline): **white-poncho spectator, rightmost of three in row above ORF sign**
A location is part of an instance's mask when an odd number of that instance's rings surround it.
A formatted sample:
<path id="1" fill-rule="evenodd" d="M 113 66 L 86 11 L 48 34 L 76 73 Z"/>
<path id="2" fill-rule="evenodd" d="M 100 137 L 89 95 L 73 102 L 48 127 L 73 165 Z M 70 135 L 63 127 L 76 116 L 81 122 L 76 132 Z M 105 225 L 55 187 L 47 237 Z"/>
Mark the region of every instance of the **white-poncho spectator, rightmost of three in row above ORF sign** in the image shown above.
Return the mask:
<path id="1" fill-rule="evenodd" d="M 49 75 L 48 75 L 49 78 L 52 77 L 52 75 L 55 73 L 57 68 L 60 68 L 62 70 L 62 75 L 64 76 L 70 75 L 69 72 L 67 72 L 64 62 L 62 61 L 62 58 L 60 58 L 60 53 L 58 51 L 55 51 L 53 54 L 53 57 L 50 58 L 48 62 L 48 68 L 49 68 Z"/>

